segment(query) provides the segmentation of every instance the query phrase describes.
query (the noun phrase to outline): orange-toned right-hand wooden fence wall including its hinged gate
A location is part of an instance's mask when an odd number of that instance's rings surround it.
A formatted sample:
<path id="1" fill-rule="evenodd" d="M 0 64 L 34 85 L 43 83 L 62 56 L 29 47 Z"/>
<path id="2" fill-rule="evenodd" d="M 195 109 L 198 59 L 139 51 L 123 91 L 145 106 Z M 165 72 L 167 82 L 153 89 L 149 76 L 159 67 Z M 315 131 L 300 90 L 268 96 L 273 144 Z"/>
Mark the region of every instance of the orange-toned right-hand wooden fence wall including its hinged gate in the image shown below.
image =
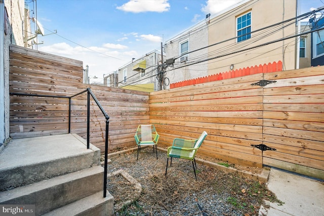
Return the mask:
<path id="1" fill-rule="evenodd" d="M 262 86 L 260 81 L 273 81 Z M 197 154 L 324 179 L 324 66 L 150 93 L 159 142 L 207 131 Z M 261 151 L 251 145 L 276 151 Z M 262 147 L 262 146 L 261 146 Z"/>

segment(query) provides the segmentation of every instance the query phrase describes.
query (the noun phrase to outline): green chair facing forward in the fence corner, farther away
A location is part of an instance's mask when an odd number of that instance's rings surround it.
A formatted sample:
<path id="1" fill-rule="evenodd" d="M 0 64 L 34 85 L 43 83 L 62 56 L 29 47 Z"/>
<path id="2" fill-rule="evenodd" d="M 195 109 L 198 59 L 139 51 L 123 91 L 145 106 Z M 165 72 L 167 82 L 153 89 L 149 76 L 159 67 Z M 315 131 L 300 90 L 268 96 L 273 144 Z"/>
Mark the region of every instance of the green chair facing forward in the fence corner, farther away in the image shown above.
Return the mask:
<path id="1" fill-rule="evenodd" d="M 153 152 L 155 146 L 156 159 L 157 159 L 156 145 L 157 145 L 159 135 L 156 132 L 154 125 L 139 125 L 134 137 L 137 144 L 137 160 L 138 160 L 138 152 L 141 151 L 141 146 L 153 146 Z"/>

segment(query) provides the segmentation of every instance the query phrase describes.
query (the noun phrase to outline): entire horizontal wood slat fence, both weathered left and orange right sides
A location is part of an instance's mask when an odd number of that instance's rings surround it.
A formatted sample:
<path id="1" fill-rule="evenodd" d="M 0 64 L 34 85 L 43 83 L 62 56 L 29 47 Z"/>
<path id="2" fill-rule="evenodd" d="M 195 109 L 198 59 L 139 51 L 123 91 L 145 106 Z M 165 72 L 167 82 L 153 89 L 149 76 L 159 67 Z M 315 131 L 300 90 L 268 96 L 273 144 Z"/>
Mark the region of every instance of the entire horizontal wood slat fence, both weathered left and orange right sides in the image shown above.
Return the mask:
<path id="1" fill-rule="evenodd" d="M 258 73 L 157 92 L 82 83 L 82 62 L 12 46 L 10 92 L 73 95 L 90 87 L 110 116 L 109 150 L 135 147 L 139 124 L 159 145 L 207 131 L 198 155 L 263 164 L 324 179 L 324 66 Z M 262 80 L 275 81 L 265 86 Z M 253 84 L 253 85 L 252 85 Z M 65 98 L 10 96 L 13 138 L 67 133 Z M 86 138 L 87 95 L 72 99 L 72 133 Z M 90 141 L 104 147 L 105 118 L 91 102 Z M 276 151 L 261 151 L 251 145 Z M 44 143 L 46 145 L 46 143 Z"/>

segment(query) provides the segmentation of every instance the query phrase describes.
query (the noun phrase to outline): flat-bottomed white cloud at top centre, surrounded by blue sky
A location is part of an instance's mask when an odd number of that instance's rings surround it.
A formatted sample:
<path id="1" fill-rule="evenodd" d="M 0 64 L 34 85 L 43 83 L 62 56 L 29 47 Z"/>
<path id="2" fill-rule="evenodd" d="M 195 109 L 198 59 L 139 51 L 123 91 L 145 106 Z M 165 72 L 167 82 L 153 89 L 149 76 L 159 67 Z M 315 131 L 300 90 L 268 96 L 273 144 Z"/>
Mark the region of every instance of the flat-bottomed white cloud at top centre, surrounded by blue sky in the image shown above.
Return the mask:
<path id="1" fill-rule="evenodd" d="M 116 9 L 132 13 L 141 13 L 141 12 L 167 12 L 170 10 L 170 4 L 168 0 L 130 0 L 128 3 Z"/>

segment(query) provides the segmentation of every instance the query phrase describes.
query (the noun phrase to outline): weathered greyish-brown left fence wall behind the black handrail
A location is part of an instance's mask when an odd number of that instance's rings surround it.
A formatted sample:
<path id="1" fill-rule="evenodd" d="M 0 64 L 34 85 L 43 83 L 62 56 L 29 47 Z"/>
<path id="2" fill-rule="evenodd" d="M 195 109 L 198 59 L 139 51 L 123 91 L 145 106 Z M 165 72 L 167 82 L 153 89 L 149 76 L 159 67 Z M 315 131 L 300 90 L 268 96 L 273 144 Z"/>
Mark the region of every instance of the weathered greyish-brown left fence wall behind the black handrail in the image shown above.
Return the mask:
<path id="1" fill-rule="evenodd" d="M 91 88 L 107 112 L 109 150 L 135 146 L 139 124 L 149 123 L 147 92 L 83 84 L 83 62 L 12 45 L 10 92 L 72 96 Z M 105 122 L 91 98 L 90 142 L 104 149 Z M 13 138 L 68 132 L 68 98 L 10 96 L 10 135 Z M 71 99 L 71 133 L 87 138 L 87 93 Z M 44 143 L 46 145 L 46 143 Z"/>

